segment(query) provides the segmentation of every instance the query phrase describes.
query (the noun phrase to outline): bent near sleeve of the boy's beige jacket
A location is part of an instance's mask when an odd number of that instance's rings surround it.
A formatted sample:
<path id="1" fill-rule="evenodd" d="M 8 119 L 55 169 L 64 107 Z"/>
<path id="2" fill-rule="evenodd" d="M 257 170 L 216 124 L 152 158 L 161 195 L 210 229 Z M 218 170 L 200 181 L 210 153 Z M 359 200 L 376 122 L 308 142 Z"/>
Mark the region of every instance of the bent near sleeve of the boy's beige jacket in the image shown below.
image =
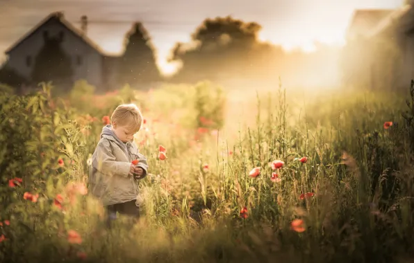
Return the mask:
<path id="1" fill-rule="evenodd" d="M 99 141 L 97 149 L 92 156 L 92 166 L 102 174 L 128 177 L 131 163 L 115 160 L 116 158 L 110 149 L 109 141 L 106 139 Z"/>

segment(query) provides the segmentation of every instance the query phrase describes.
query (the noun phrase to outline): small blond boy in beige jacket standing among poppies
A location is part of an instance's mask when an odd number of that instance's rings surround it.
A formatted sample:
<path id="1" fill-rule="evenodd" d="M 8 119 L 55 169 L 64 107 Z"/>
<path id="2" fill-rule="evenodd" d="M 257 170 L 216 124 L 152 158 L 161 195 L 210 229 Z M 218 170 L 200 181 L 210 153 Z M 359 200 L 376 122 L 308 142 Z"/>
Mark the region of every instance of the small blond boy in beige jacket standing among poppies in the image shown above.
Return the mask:
<path id="1" fill-rule="evenodd" d="M 119 105 L 110 117 L 111 125 L 102 129 L 101 139 L 92 155 L 90 192 L 108 212 L 107 226 L 117 212 L 138 219 L 136 204 L 138 179 L 147 176 L 147 158 L 138 152 L 133 135 L 141 129 L 142 115 L 136 105 Z M 138 160 L 137 165 L 131 163 Z"/>

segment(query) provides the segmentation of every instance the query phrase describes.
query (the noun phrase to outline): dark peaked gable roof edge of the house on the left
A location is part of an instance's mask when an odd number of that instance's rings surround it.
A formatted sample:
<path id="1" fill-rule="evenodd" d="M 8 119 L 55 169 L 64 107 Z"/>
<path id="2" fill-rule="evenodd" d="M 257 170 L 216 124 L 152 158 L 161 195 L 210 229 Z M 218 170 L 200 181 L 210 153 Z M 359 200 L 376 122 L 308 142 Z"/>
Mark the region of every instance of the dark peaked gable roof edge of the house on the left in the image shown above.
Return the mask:
<path id="1" fill-rule="evenodd" d="M 22 42 L 24 42 L 28 37 L 30 37 L 35 32 L 40 30 L 40 28 L 42 28 L 42 26 L 44 24 L 46 24 L 47 22 L 49 22 L 51 20 L 58 21 L 60 24 L 65 26 L 65 28 L 67 28 L 67 30 L 69 30 L 69 32 L 73 33 L 76 37 L 78 37 L 83 42 L 85 42 L 85 44 L 88 44 L 90 47 L 94 48 L 97 52 L 101 53 L 102 55 L 105 55 L 104 51 L 102 51 L 101 48 L 96 43 L 94 43 L 92 41 L 92 39 L 90 39 L 87 35 L 83 34 L 83 32 L 81 30 L 79 30 L 78 28 L 75 28 L 74 26 L 72 26 L 72 24 L 70 24 L 69 21 L 67 21 L 63 17 L 63 12 L 52 12 L 50 15 L 48 15 L 47 17 L 42 19 L 42 21 L 40 21 L 31 30 L 29 30 L 28 33 L 26 33 L 26 35 L 23 35 L 22 37 L 20 37 L 17 40 L 17 42 L 15 42 L 15 44 L 13 44 L 9 48 L 7 48 L 4 53 L 8 54 L 8 53 L 10 53 L 10 51 L 13 51 L 13 49 L 17 48 L 17 46 L 22 44 Z"/>

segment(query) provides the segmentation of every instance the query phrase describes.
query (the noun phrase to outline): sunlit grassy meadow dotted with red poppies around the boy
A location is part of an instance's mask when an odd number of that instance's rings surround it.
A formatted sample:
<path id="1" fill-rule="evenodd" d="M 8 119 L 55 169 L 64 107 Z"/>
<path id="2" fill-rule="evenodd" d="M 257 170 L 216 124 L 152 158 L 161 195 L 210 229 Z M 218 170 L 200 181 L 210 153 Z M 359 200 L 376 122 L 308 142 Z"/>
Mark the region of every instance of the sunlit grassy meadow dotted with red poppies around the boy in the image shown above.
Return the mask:
<path id="1" fill-rule="evenodd" d="M 1 89 L 1 262 L 413 262 L 414 90 L 78 82 Z M 142 109 L 142 217 L 87 193 L 105 116 Z M 158 158 L 163 145 L 167 158 Z"/>

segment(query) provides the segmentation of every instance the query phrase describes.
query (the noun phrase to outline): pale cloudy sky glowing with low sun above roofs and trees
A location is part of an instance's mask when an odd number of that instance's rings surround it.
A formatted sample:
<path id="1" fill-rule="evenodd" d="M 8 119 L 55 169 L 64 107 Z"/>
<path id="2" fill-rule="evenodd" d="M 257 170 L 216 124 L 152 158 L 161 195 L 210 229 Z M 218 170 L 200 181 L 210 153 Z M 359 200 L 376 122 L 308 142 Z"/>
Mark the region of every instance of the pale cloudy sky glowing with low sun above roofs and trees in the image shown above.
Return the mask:
<path id="1" fill-rule="evenodd" d="M 0 0 L 0 61 L 3 51 L 50 12 L 63 11 L 79 26 L 90 21 L 88 35 L 108 53 L 122 52 L 122 42 L 133 21 L 142 21 L 157 48 L 158 63 L 166 73 L 174 66 L 165 58 L 176 42 L 206 19 L 231 15 L 256 21 L 260 39 L 283 48 L 313 50 L 314 42 L 345 43 L 345 30 L 355 9 L 397 8 L 404 0 Z"/>

